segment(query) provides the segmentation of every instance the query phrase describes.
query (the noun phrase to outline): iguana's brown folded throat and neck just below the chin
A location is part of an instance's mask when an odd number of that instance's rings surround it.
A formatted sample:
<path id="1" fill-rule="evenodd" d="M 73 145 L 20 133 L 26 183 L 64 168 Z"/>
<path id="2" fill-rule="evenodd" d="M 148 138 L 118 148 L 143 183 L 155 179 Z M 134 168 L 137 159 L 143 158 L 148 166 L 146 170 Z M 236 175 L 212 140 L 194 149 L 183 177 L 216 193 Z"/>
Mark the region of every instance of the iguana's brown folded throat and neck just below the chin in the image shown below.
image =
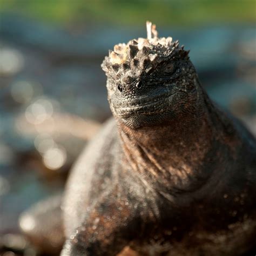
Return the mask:
<path id="1" fill-rule="evenodd" d="M 134 172 L 186 190 L 194 189 L 191 180 L 204 180 L 211 175 L 211 170 L 205 171 L 203 166 L 214 157 L 211 150 L 218 130 L 214 126 L 218 123 L 216 113 L 204 100 L 194 111 L 173 118 L 168 124 L 138 130 L 118 123 L 123 152 Z"/>

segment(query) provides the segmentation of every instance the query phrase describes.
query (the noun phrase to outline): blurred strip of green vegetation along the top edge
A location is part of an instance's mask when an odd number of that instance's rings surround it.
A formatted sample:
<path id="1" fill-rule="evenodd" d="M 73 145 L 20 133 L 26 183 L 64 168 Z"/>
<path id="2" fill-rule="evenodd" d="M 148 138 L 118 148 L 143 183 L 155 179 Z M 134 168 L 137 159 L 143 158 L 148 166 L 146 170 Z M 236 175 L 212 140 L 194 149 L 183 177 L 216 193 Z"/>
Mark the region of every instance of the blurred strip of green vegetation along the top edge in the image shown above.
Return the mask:
<path id="1" fill-rule="evenodd" d="M 256 0 L 0 0 L 0 11 L 63 25 L 204 25 L 255 22 Z"/>

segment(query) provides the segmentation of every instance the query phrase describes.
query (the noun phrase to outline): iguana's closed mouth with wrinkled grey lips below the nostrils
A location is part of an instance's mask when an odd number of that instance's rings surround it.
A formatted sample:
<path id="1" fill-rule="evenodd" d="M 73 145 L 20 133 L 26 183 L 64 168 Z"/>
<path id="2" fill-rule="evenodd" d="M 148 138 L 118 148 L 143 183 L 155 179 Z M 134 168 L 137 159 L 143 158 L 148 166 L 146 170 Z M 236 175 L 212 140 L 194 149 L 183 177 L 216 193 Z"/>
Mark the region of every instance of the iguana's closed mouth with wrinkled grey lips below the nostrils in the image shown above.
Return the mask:
<path id="1" fill-rule="evenodd" d="M 132 114 L 156 114 L 164 112 L 170 107 L 170 99 L 176 92 L 160 95 L 154 98 L 136 100 L 126 104 L 126 106 L 113 106 L 114 112 L 120 117 L 129 117 Z"/>

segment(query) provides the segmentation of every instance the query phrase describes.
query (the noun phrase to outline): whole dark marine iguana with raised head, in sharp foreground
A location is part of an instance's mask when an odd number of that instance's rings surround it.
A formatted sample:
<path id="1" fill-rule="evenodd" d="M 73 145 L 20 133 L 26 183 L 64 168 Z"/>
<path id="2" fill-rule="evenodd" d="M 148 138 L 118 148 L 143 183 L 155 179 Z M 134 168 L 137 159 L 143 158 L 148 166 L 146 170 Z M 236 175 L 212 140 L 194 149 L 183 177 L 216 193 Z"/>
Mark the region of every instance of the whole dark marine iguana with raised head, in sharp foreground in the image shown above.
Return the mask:
<path id="1" fill-rule="evenodd" d="M 115 45 L 102 68 L 114 118 L 69 178 L 61 255 L 255 246 L 256 140 L 207 96 L 188 51 L 148 22 L 147 39 Z"/>

